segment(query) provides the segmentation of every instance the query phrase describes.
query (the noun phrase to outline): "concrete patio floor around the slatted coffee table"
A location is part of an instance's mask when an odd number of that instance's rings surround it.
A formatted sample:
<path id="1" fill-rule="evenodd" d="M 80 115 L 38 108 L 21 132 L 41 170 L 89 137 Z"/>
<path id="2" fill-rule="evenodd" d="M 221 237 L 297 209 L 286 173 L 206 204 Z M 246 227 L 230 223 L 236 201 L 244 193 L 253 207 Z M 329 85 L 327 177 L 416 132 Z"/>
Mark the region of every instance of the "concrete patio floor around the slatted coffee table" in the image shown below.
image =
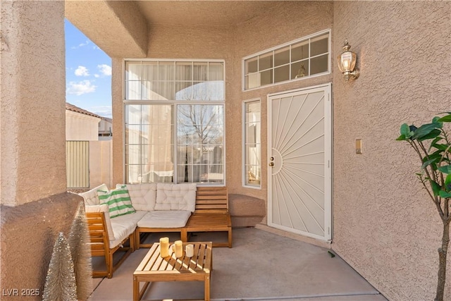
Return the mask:
<path id="1" fill-rule="evenodd" d="M 209 235 L 197 233 L 192 240 L 209 241 Z M 174 233 L 154 233 L 147 240 L 161 236 L 179 239 Z M 113 278 L 94 278 L 89 301 L 132 300 L 132 274 L 148 250 L 133 252 Z M 233 248 L 214 247 L 213 266 L 211 300 L 387 300 L 327 249 L 256 228 L 234 228 Z M 156 282 L 142 300 L 163 299 L 203 300 L 204 285 Z"/>

